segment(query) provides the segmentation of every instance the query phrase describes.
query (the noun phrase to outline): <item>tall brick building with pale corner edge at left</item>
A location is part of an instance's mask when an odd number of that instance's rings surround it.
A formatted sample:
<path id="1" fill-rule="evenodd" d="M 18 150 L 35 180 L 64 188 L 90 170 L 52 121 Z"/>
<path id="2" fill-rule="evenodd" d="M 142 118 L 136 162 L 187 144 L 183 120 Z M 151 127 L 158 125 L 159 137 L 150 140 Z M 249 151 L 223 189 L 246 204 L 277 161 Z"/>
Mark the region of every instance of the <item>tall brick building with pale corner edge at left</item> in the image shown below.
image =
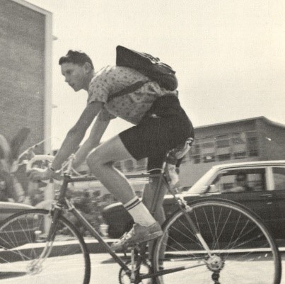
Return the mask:
<path id="1" fill-rule="evenodd" d="M 52 13 L 23 0 L 0 5 L 0 134 L 30 129 L 23 147 L 46 140 L 52 110 Z"/>

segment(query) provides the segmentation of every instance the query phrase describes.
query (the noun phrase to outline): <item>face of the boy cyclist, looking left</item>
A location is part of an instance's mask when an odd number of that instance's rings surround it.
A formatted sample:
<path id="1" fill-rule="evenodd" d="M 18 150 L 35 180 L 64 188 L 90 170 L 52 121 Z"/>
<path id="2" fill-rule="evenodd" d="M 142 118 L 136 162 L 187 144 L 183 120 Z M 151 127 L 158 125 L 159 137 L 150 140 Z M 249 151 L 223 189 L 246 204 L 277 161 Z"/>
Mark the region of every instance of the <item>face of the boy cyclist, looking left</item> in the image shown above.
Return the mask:
<path id="1" fill-rule="evenodd" d="M 84 89 L 86 85 L 86 67 L 66 62 L 62 64 L 62 75 L 74 91 Z"/>

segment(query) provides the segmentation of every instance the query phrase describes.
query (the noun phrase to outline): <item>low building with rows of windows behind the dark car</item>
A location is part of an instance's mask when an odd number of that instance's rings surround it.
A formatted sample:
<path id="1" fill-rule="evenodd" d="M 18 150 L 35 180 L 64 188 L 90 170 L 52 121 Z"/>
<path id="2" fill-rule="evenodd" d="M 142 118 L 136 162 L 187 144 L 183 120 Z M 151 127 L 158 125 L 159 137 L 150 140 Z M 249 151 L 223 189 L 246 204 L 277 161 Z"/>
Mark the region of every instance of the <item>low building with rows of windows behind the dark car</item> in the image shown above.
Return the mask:
<path id="1" fill-rule="evenodd" d="M 264 117 L 195 128 L 195 141 L 180 169 L 192 186 L 215 164 L 285 159 L 285 125 Z"/>

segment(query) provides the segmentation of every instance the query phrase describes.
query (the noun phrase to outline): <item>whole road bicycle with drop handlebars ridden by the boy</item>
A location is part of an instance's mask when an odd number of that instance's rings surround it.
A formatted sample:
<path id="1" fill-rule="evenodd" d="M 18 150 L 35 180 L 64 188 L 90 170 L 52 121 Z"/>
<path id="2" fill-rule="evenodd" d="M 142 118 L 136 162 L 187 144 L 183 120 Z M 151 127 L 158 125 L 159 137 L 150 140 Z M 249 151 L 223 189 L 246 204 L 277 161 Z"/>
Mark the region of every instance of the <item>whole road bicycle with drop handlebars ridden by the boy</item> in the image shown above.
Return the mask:
<path id="1" fill-rule="evenodd" d="M 27 161 L 30 168 L 38 160 Z M 66 198 L 69 183 L 94 181 L 94 177 L 71 176 L 73 157 L 66 163 L 62 186 L 52 208 L 32 209 L 8 217 L 0 225 L 0 279 L 5 283 L 74 283 L 70 270 L 88 284 L 91 261 L 88 244 L 64 212 L 72 213 L 78 222 L 98 240 L 106 253 L 120 266 L 119 282 L 170 284 L 243 283 L 279 284 L 281 259 L 269 230 L 260 217 L 238 203 L 205 197 L 187 204 L 172 188 L 178 210 L 163 225 L 163 236 L 156 239 L 149 254 L 146 244 L 135 245 L 123 256 L 110 249 L 74 205 Z M 165 181 L 165 164 L 158 189 Z M 154 200 L 155 202 L 155 200 Z M 68 239 L 68 240 L 66 240 Z M 61 244 L 61 246 L 59 246 Z M 193 270 L 191 270 L 193 269 Z M 190 273 L 192 271 L 192 273 Z M 11 281 L 11 282 L 9 282 Z"/>

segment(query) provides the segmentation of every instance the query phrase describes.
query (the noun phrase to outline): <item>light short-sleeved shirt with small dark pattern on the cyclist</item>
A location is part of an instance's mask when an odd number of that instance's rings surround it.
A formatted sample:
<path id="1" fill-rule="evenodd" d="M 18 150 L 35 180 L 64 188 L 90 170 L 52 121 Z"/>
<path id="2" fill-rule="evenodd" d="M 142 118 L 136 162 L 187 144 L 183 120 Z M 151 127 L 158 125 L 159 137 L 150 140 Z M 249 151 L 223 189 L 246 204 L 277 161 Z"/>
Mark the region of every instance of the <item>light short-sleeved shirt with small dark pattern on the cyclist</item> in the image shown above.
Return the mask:
<path id="1" fill-rule="evenodd" d="M 168 91 L 161 88 L 156 82 L 149 81 L 133 93 L 113 98 L 107 102 L 112 93 L 117 93 L 137 81 L 146 81 L 149 78 L 127 67 L 107 66 L 95 73 L 88 89 L 88 103 L 100 101 L 103 108 L 98 119 L 109 120 L 122 118 L 129 123 L 138 124 L 146 111 L 151 108 L 153 101 L 165 94 L 178 96 L 178 91 Z"/>

